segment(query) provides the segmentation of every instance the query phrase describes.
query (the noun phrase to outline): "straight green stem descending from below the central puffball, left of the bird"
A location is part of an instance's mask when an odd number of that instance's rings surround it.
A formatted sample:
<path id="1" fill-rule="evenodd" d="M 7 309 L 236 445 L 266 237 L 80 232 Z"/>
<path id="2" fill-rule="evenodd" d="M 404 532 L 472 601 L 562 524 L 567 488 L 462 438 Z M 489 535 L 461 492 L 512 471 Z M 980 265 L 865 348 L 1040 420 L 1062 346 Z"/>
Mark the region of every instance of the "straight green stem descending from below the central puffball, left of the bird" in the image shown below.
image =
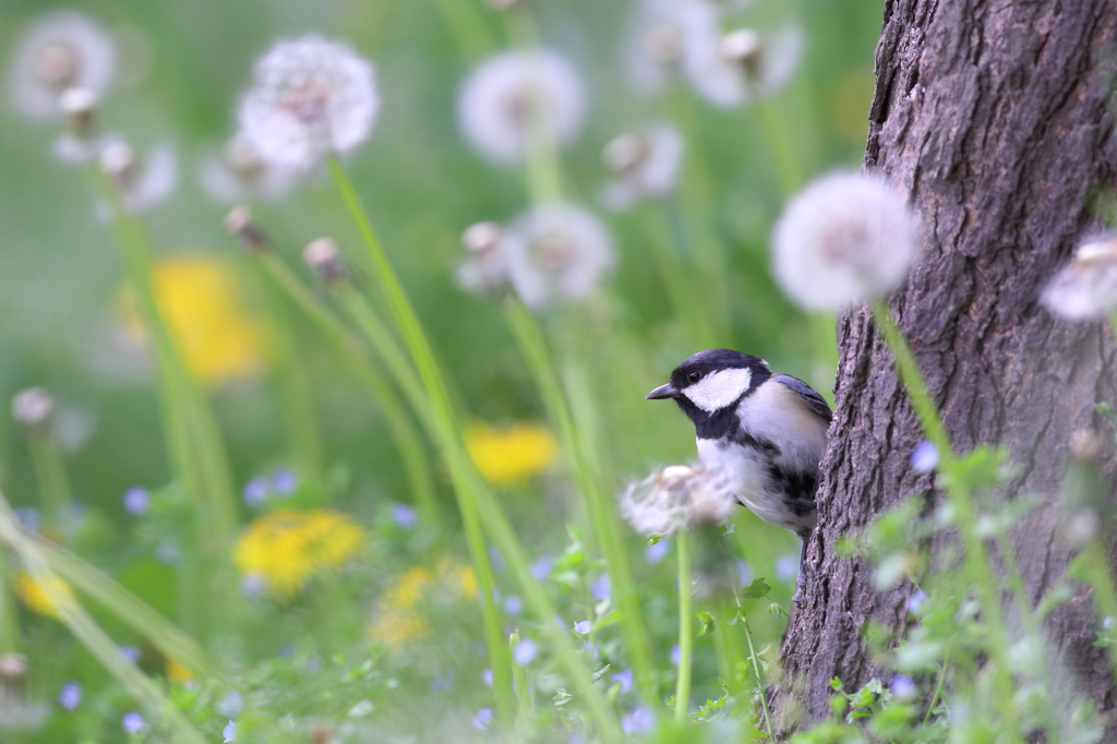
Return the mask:
<path id="1" fill-rule="evenodd" d="M 594 473 L 590 452 L 585 441 L 574 423 L 570 400 L 563 390 L 546 341 L 543 337 L 535 316 L 516 297 L 505 302 L 505 317 L 512 327 L 519 345 L 519 351 L 527 362 L 528 370 L 535 380 L 535 385 L 543 397 L 543 403 L 552 423 L 558 430 L 563 450 L 570 459 L 579 493 L 585 504 L 590 517 L 590 527 L 594 540 L 601 546 L 605 556 L 605 567 L 613 597 L 621 611 L 621 628 L 624 633 L 629 661 L 636 675 L 638 689 L 646 698 L 653 693 L 653 673 L 651 649 L 648 633 L 643 627 L 640 601 L 632 580 L 632 569 L 624 551 L 620 522 L 611 499 L 601 487 L 601 480 Z"/>

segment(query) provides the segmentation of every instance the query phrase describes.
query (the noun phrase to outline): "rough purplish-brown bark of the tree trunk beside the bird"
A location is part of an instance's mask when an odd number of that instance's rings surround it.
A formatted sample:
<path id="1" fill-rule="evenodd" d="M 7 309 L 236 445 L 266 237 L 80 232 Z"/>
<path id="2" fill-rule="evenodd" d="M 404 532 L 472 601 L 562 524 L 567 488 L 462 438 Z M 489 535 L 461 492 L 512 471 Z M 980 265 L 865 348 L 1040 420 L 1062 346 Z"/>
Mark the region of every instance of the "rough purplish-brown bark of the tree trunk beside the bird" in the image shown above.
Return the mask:
<path id="1" fill-rule="evenodd" d="M 891 309 L 957 449 L 1008 446 L 1020 471 L 1001 497 L 1044 500 L 1014 534 L 1033 599 L 1072 556 L 1054 504 L 1071 436 L 1113 433 L 1094 412 L 1117 402 L 1111 332 L 1058 321 L 1038 297 L 1117 174 L 1115 60 L 1114 0 L 888 1 L 877 49 L 866 165 L 910 193 L 925 250 Z M 820 524 L 776 693 L 784 731 L 829 716 L 832 677 L 851 689 L 886 674 L 862 630 L 876 621 L 900 637 L 911 588 L 873 591 L 871 566 L 842 559 L 838 541 L 932 487 L 911 471 L 920 436 L 866 311 L 841 318 L 839 344 Z M 1092 612 L 1083 591 L 1048 629 L 1079 689 L 1113 712 Z"/>

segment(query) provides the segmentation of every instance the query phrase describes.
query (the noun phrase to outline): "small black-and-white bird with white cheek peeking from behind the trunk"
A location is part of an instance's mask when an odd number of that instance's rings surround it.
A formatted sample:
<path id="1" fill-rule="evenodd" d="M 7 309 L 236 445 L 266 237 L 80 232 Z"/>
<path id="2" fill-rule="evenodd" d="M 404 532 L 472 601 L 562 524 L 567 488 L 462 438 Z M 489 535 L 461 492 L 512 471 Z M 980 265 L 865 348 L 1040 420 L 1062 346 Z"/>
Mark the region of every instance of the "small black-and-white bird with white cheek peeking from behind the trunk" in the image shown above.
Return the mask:
<path id="1" fill-rule="evenodd" d="M 792 599 L 800 601 L 806 541 L 818 522 L 827 401 L 802 380 L 773 374 L 764 360 L 728 349 L 698 352 L 646 398 L 678 403 L 694 421 L 703 467 L 723 474 L 753 514 L 799 535 L 800 591 Z"/>

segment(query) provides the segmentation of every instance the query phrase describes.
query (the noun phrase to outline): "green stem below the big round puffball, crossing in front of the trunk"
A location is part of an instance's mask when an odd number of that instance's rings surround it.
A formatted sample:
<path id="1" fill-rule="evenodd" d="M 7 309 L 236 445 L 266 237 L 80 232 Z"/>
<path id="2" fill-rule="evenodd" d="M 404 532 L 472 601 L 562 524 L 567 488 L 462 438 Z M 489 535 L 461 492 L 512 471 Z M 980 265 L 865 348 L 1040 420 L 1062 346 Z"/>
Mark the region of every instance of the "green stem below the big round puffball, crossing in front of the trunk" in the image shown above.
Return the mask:
<path id="1" fill-rule="evenodd" d="M 915 410 L 919 427 L 923 429 L 924 436 L 938 450 L 939 470 L 945 476 L 947 498 L 954 508 L 955 523 L 958 525 L 965 545 L 965 574 L 968 582 L 977 588 L 983 613 L 992 629 L 987 637 L 993 657 L 993 680 L 996 685 L 996 698 L 1003 718 L 1002 723 L 1009 727 L 1015 721 L 1015 713 L 1012 705 L 1013 681 L 1009 664 L 1006 632 L 1001 612 L 1000 591 L 993 579 L 985 543 L 977 532 L 977 513 L 970 489 L 965 485 L 965 476 L 958 467 L 958 459 L 954 454 L 951 438 L 938 416 L 938 409 L 932 400 L 930 392 L 927 390 L 923 373 L 911 355 L 907 338 L 896 325 L 888 305 L 884 301 L 878 301 L 872 305 L 872 317 L 892 354 L 896 372 L 911 401 L 911 408 Z M 1015 728 L 1012 728 L 1011 738 L 1020 741 Z"/>

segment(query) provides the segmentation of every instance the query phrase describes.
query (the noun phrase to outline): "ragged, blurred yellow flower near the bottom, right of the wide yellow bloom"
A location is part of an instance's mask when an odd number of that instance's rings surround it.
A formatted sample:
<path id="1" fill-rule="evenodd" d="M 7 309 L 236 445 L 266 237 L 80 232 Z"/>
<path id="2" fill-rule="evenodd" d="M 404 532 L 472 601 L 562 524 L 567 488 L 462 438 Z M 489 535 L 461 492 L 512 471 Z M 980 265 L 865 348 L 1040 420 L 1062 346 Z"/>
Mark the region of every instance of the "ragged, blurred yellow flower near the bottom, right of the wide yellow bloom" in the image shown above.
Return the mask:
<path id="1" fill-rule="evenodd" d="M 374 612 L 373 638 L 392 651 L 433 635 L 423 611 L 433 603 L 458 603 L 477 594 L 477 574 L 468 563 L 446 556 L 436 571 L 411 566 L 393 578 Z"/>

